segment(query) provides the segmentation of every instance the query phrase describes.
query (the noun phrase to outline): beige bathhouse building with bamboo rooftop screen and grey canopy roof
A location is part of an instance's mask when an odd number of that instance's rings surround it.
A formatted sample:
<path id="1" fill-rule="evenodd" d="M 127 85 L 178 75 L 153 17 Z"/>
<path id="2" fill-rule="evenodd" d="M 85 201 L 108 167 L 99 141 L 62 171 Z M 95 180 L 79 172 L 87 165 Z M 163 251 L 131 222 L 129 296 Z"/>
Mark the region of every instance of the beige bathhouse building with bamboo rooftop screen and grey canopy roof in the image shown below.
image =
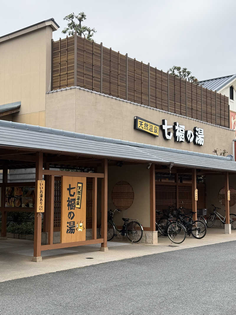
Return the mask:
<path id="1" fill-rule="evenodd" d="M 0 37 L 3 217 L 10 211 L 3 202 L 6 168 L 12 174 L 14 169 L 32 172 L 36 165 L 36 180 L 44 176 L 52 193 L 50 200 L 46 194 L 43 216 L 48 244 L 39 243 L 37 215 L 34 257 L 41 250 L 63 247 L 62 239 L 60 245 L 53 242 L 53 231 L 62 236 L 61 187 L 63 177 L 73 173 L 69 169 L 86 178 L 86 230 L 102 248 L 109 208 L 121 208 L 115 218 L 118 225 L 122 217 L 138 218 L 143 242 L 151 244 L 157 243 L 156 210 L 184 204 L 194 211 L 214 203 L 222 205 L 222 214 L 226 207 L 228 215 L 229 206 L 236 213 L 235 132 L 230 129 L 227 94 L 173 77 L 76 34 L 53 42 L 58 27 L 50 19 Z M 7 132 L 15 141 L 7 141 Z M 4 153 L 6 147 L 14 157 Z M 217 157 L 216 148 L 228 156 Z M 224 197 L 228 190 L 231 203 Z M 97 238 L 100 223 L 103 234 Z M 3 224 L 2 237 L 5 232 Z"/>

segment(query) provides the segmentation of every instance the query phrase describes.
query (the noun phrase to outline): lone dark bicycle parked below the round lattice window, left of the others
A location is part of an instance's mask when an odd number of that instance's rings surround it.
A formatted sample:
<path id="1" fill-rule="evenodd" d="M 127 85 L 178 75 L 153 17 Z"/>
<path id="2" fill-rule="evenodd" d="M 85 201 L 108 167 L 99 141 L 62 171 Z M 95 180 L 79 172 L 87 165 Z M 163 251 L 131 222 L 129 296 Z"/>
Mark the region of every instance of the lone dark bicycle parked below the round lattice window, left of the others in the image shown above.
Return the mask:
<path id="1" fill-rule="evenodd" d="M 121 212 L 119 209 L 115 209 L 114 211 L 110 209 L 107 214 L 107 240 L 110 241 L 114 236 L 117 236 L 117 234 L 115 234 L 115 231 L 117 231 L 122 236 L 126 235 L 132 243 L 138 243 L 143 237 L 143 226 L 137 222 L 138 219 L 122 218 L 124 224 L 122 229 L 119 230 L 113 221 L 115 211 Z M 99 234 L 101 236 L 101 225 L 99 227 Z"/>

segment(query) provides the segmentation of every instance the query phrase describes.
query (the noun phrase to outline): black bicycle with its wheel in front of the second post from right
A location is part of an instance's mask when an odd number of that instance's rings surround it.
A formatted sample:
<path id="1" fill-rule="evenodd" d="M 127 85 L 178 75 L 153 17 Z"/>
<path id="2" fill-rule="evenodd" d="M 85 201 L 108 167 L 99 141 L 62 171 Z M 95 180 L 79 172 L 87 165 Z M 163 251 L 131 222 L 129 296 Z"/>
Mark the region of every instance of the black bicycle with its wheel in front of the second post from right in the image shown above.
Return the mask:
<path id="1" fill-rule="evenodd" d="M 196 212 L 189 211 L 189 215 L 184 215 L 181 213 L 183 207 L 180 207 L 179 209 L 176 209 L 172 212 L 172 215 L 176 217 L 176 221 L 180 221 L 180 223 L 185 227 L 185 232 L 190 236 L 194 238 L 204 238 L 206 235 L 206 226 L 202 221 L 193 220 L 193 215 Z"/>

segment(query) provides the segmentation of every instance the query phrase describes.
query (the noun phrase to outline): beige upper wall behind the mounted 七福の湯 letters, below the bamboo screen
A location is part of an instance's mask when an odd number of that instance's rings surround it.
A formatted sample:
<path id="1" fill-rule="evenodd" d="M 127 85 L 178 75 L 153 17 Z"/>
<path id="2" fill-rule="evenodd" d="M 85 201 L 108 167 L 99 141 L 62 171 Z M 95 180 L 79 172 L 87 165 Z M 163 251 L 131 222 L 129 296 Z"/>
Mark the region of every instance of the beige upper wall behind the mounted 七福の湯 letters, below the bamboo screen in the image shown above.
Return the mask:
<path id="1" fill-rule="evenodd" d="M 195 126 L 204 129 L 204 146 L 194 143 L 165 140 L 162 132 L 158 138 L 133 128 L 134 116 L 153 123 L 161 124 L 167 119 L 169 125 L 174 122 L 185 125 L 185 130 Z M 89 135 L 98 135 L 115 139 L 165 146 L 195 152 L 212 154 L 217 147 L 233 154 L 232 139 L 234 131 L 200 123 L 189 118 L 178 117 L 143 106 L 134 105 L 103 95 L 80 89 L 68 89 L 46 94 L 46 126 Z M 171 130 L 171 129 L 170 129 Z M 171 130 L 173 132 L 173 130 Z"/>

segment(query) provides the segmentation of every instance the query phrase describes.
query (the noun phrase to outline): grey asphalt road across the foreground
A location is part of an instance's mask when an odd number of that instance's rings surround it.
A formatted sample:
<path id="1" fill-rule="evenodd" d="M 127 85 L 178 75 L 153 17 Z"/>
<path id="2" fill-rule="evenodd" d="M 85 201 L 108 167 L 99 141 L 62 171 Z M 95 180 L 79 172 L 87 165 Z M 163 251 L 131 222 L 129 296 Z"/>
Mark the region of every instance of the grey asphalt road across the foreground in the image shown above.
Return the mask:
<path id="1" fill-rule="evenodd" d="M 235 248 L 233 241 L 6 281 L 0 314 L 235 315 Z"/>

